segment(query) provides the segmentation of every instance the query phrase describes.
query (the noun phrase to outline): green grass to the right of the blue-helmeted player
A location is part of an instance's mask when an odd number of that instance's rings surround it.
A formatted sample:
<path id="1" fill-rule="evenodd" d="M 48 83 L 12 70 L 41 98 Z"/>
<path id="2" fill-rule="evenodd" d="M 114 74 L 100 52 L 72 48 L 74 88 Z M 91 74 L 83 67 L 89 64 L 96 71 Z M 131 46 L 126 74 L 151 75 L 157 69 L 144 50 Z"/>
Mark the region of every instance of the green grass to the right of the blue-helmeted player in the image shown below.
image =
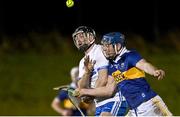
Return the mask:
<path id="1" fill-rule="evenodd" d="M 152 55 L 149 59 L 166 72 L 163 80 L 149 76 L 150 85 L 162 97 L 173 115 L 180 115 L 180 54 Z"/>

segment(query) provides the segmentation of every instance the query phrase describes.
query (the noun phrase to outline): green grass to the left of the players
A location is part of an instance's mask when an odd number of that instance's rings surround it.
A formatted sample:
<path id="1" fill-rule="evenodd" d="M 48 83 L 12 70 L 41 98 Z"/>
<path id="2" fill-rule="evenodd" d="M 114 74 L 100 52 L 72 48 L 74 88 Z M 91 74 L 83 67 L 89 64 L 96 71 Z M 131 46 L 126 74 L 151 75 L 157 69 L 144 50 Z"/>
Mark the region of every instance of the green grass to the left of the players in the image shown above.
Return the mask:
<path id="1" fill-rule="evenodd" d="M 54 115 L 52 88 L 68 84 L 79 56 L 15 54 L 0 59 L 0 115 Z"/>

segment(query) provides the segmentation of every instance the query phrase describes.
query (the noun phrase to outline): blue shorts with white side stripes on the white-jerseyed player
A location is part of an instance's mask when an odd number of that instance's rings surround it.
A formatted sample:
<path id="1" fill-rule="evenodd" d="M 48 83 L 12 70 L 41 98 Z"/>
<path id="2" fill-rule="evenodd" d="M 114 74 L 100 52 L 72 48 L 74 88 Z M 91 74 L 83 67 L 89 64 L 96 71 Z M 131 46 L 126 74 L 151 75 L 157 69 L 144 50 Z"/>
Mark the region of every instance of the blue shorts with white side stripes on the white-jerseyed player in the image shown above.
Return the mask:
<path id="1" fill-rule="evenodd" d="M 113 116 L 125 116 L 127 113 L 128 104 L 126 101 L 109 102 L 102 106 L 96 107 L 95 116 L 99 116 L 102 112 L 110 112 Z"/>

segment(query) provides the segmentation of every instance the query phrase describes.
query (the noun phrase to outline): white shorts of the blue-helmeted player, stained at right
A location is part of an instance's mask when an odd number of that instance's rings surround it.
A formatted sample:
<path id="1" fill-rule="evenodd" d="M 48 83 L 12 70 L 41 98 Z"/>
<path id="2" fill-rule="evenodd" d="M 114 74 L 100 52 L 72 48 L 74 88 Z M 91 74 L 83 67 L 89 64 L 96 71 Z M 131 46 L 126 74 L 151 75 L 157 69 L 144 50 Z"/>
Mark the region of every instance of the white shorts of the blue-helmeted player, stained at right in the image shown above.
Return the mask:
<path id="1" fill-rule="evenodd" d="M 160 96 L 143 102 L 136 109 L 129 110 L 127 116 L 172 116 Z"/>

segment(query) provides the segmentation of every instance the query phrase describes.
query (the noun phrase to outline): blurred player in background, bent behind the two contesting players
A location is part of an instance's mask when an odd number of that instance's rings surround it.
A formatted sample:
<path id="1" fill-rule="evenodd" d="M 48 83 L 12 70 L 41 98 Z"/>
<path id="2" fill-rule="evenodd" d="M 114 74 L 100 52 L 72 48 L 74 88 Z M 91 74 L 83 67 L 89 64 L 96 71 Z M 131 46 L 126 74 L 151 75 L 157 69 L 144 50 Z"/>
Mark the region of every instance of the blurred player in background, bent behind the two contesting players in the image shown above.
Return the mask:
<path id="1" fill-rule="evenodd" d="M 72 82 L 69 86 L 73 89 L 77 87 L 77 77 L 78 77 L 78 66 L 75 66 L 71 69 L 70 75 Z M 88 109 L 90 110 L 91 104 L 81 103 L 81 110 L 85 115 L 88 115 Z M 54 111 L 59 113 L 62 116 L 82 116 L 78 109 L 71 103 L 68 98 L 68 92 L 61 90 L 58 95 L 53 99 L 51 107 Z"/>

